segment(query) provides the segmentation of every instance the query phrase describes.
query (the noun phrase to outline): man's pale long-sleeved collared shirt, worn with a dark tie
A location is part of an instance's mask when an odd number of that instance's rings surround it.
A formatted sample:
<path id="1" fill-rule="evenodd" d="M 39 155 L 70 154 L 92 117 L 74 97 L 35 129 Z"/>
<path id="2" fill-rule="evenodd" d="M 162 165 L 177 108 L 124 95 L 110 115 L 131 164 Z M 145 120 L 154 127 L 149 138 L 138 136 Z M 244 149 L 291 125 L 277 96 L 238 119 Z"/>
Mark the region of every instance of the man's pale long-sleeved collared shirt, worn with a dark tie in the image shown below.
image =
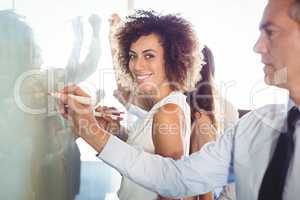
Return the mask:
<path id="1" fill-rule="evenodd" d="M 178 161 L 145 153 L 113 136 L 99 158 L 162 196 L 179 198 L 206 193 L 225 185 L 229 175 L 234 173 L 237 199 L 256 200 L 285 126 L 287 110 L 285 105 L 254 110 L 216 142 Z M 285 200 L 298 200 L 300 196 L 300 121 L 294 135 L 295 154 L 287 176 Z"/>

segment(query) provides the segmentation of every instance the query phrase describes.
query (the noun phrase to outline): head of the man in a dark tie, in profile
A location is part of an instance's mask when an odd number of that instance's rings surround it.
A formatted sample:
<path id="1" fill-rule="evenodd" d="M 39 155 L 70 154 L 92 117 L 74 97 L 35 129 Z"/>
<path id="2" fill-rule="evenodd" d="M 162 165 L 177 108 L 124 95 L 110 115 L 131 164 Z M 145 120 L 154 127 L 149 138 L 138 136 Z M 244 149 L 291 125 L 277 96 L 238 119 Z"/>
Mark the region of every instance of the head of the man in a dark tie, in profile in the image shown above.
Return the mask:
<path id="1" fill-rule="evenodd" d="M 269 0 L 254 47 L 265 64 L 265 82 L 290 92 L 300 89 L 299 4 L 299 0 Z"/>

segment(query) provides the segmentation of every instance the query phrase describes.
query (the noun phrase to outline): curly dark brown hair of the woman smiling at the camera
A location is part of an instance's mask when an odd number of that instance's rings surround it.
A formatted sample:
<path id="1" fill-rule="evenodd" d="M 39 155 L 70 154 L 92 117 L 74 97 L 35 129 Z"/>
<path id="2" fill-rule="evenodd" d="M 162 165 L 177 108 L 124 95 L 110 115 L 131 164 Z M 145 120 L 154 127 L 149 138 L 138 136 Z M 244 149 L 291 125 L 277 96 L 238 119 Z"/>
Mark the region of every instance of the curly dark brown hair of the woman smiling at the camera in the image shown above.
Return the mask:
<path id="1" fill-rule="evenodd" d="M 157 34 L 164 49 L 166 75 L 172 89 L 186 90 L 192 76 L 189 70 L 197 62 L 198 41 L 192 25 L 176 15 L 161 15 L 154 11 L 138 10 L 126 18 L 124 26 L 117 33 L 119 42 L 119 62 L 121 68 L 129 71 L 129 50 L 132 43 L 141 36 Z M 193 71 L 193 70 L 191 70 Z M 195 82 L 195 81 L 194 81 Z"/>

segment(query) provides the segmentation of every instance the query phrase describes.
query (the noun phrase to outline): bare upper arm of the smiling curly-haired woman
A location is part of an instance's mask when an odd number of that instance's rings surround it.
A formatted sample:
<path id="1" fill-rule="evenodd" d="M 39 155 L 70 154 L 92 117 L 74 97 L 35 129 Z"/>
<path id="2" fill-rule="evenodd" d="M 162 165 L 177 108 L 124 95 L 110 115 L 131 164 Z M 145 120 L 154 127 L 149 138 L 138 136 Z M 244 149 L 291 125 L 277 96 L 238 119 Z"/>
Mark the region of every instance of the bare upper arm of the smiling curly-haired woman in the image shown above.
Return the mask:
<path id="1" fill-rule="evenodd" d="M 184 155 L 182 133 L 184 114 L 176 104 L 166 104 L 154 115 L 152 138 L 155 154 L 170 157 L 175 160 Z M 159 197 L 160 200 L 169 198 Z"/>

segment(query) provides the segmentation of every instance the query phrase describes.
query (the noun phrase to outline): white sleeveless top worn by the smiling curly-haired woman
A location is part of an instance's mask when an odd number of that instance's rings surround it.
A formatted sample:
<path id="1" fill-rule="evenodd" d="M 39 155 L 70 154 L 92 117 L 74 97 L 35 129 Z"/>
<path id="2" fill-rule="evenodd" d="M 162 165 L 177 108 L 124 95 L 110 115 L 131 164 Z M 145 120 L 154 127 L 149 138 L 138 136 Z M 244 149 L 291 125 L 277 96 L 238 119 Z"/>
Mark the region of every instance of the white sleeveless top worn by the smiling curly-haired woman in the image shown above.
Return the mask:
<path id="1" fill-rule="evenodd" d="M 186 96 L 179 91 L 174 91 L 168 96 L 156 103 L 152 109 L 147 112 L 143 120 L 139 121 L 136 125 L 136 130 L 128 135 L 127 143 L 139 148 L 143 148 L 148 153 L 154 153 L 154 145 L 152 140 L 152 124 L 153 116 L 157 111 L 166 104 L 176 104 L 181 108 L 184 113 L 185 125 L 181 125 L 181 137 L 184 144 L 184 155 L 189 155 L 190 145 L 190 107 L 186 102 Z M 155 169 L 153 169 L 155 170 Z M 145 176 L 151 176 L 145 174 Z M 120 190 L 118 192 L 120 200 L 155 200 L 158 195 L 154 192 L 144 189 L 143 187 L 135 184 L 126 177 L 122 178 Z"/>

